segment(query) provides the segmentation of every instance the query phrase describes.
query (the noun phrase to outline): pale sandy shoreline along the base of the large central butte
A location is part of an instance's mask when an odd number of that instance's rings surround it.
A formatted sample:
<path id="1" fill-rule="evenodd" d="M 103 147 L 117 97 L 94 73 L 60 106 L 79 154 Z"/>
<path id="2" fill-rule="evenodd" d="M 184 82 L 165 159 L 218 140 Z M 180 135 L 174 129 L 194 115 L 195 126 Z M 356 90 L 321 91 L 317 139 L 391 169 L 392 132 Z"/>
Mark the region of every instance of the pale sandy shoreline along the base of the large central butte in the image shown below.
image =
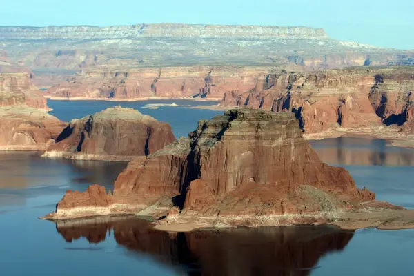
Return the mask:
<path id="1" fill-rule="evenodd" d="M 39 217 L 56 224 L 90 224 L 96 221 L 121 221 L 135 217 L 148 220 L 139 213 L 101 213 L 86 217 L 56 218 Z M 199 217 L 192 215 L 175 215 L 166 219 L 150 219 L 151 228 L 164 232 L 191 232 L 201 229 L 231 229 L 231 228 L 260 228 L 285 226 L 335 226 L 342 230 L 358 230 L 377 228 L 379 230 L 404 230 L 414 228 L 414 210 L 406 209 L 377 209 L 377 210 L 342 210 L 327 214 L 314 213 L 308 215 L 286 214 L 268 216 L 241 217 Z"/>

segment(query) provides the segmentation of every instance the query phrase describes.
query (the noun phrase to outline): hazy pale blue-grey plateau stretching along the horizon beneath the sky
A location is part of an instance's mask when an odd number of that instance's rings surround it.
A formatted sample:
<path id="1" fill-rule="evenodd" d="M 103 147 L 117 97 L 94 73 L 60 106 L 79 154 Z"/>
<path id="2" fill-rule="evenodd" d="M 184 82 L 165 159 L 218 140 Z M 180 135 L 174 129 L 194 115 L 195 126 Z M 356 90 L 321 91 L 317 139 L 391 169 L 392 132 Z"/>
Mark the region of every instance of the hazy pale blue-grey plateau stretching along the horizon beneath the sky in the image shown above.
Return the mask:
<path id="1" fill-rule="evenodd" d="M 324 30 L 279 26 L 139 24 L 131 26 L 1 27 L 0 50 L 35 72 L 37 85 L 82 69 L 180 66 L 412 65 L 412 51 L 337 41 Z M 59 76 L 59 77 L 58 77 Z M 180 83 L 181 84 L 181 83 Z"/>

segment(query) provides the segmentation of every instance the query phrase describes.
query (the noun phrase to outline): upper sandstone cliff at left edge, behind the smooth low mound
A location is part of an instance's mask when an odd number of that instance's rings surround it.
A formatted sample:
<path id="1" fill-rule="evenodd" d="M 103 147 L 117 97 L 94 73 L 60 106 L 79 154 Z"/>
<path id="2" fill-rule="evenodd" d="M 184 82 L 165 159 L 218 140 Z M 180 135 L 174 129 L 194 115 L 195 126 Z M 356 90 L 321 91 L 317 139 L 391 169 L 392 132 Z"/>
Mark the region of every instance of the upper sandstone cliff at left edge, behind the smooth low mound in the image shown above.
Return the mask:
<path id="1" fill-rule="evenodd" d="M 0 72 L 0 106 L 30 106 L 50 110 L 46 99 L 30 82 L 26 72 Z"/>

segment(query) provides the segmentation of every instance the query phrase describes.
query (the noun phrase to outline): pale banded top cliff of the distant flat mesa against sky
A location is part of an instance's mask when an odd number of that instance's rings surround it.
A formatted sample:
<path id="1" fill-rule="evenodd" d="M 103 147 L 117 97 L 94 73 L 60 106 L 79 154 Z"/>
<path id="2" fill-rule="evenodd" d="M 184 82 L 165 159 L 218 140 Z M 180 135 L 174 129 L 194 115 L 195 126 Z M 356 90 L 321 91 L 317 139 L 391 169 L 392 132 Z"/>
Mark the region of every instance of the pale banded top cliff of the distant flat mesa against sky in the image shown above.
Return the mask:
<path id="1" fill-rule="evenodd" d="M 126 26 L 0 27 L 0 39 L 131 39 L 139 37 L 246 37 L 324 39 L 323 29 L 288 26 L 139 24 Z"/>

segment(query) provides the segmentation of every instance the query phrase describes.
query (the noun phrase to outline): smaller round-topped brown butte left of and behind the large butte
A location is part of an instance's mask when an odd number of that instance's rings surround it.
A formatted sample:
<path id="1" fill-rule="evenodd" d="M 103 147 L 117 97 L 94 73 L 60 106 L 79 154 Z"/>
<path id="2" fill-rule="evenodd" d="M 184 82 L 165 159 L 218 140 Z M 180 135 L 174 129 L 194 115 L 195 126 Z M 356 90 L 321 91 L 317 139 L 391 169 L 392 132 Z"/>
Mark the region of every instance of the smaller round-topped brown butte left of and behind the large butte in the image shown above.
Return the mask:
<path id="1" fill-rule="evenodd" d="M 43 157 L 130 161 L 175 141 L 169 124 L 133 108 L 107 108 L 75 119 Z"/>

